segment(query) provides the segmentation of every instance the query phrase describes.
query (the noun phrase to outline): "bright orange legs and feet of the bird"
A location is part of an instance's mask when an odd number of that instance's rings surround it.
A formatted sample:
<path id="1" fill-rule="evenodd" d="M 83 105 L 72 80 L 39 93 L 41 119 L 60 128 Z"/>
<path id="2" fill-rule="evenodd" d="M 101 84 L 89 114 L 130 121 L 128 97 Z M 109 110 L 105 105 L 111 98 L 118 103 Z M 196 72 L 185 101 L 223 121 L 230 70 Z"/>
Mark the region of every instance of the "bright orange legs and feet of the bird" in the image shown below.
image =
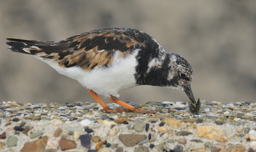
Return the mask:
<path id="1" fill-rule="evenodd" d="M 122 100 L 117 99 L 114 96 L 110 96 L 109 100 L 111 100 L 112 102 L 119 104 L 120 106 L 126 107 L 127 109 L 111 109 L 110 107 L 108 107 L 101 99 L 100 97 L 97 95 L 97 93 L 93 92 L 93 90 L 89 89 L 90 94 L 92 95 L 92 97 L 97 100 L 97 102 L 99 102 L 100 106 L 103 107 L 102 111 L 106 111 L 106 113 L 120 113 L 120 112 L 129 112 L 132 111 L 134 113 L 156 113 L 156 111 L 147 111 L 145 109 L 141 109 L 139 107 L 134 107 L 131 106 L 130 104 L 125 103 Z"/>

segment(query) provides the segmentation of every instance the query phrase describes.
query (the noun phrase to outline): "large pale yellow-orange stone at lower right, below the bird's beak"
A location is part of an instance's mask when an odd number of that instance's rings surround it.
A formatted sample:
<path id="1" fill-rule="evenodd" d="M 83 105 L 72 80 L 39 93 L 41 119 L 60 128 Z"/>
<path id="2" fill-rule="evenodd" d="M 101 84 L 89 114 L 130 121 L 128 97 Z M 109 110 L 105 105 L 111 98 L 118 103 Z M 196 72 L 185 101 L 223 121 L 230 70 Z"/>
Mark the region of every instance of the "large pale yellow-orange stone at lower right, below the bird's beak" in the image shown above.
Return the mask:
<path id="1" fill-rule="evenodd" d="M 198 137 L 205 137 L 207 139 L 214 139 L 223 134 L 223 129 L 212 125 L 203 125 L 196 128 L 196 135 Z"/>

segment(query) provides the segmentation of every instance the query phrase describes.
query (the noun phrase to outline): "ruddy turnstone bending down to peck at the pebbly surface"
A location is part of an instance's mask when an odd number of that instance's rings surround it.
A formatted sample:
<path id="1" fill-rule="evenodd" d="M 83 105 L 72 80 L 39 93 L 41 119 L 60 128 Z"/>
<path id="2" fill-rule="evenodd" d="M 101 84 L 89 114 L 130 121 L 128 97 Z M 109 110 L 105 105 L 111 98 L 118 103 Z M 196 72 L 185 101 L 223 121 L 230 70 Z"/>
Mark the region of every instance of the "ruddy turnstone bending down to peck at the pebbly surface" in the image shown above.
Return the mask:
<path id="1" fill-rule="evenodd" d="M 99 29 L 57 42 L 8 38 L 6 44 L 10 51 L 32 55 L 79 81 L 107 113 L 155 113 L 117 99 L 118 91 L 139 85 L 184 90 L 190 111 L 200 109 L 200 100 L 195 100 L 191 90 L 193 69 L 188 61 L 165 52 L 155 39 L 137 29 Z M 111 109 L 97 94 L 127 109 Z"/>

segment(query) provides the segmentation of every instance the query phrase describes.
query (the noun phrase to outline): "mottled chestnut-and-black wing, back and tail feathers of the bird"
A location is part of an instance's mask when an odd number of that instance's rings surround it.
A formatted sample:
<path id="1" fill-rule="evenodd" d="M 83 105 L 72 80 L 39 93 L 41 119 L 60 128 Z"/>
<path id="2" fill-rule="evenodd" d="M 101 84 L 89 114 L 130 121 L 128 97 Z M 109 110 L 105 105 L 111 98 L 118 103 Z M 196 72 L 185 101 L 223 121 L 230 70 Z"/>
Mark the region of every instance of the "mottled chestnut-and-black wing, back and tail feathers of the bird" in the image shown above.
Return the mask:
<path id="1" fill-rule="evenodd" d="M 8 39 L 7 44 L 9 50 L 51 59 L 61 67 L 79 66 L 90 70 L 96 66 L 109 67 L 135 49 L 145 48 L 144 34 L 135 29 L 102 29 L 58 42 Z"/>

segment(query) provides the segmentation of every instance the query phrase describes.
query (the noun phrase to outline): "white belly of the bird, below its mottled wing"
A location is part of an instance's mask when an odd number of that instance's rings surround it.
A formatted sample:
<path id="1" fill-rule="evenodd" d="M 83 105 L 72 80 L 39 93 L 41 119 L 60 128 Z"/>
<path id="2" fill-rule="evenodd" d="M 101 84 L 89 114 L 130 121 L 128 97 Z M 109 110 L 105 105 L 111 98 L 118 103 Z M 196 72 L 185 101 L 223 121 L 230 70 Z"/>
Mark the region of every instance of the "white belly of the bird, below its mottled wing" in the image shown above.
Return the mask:
<path id="1" fill-rule="evenodd" d="M 136 53 L 135 53 L 136 54 Z M 58 73 L 76 79 L 86 88 L 94 92 L 109 97 L 113 95 L 119 97 L 118 91 L 136 86 L 134 78 L 135 67 L 137 65 L 135 54 L 129 55 L 110 67 L 100 67 L 90 71 L 84 71 L 80 67 L 60 67 L 48 59 L 36 57 L 54 68 Z"/>

